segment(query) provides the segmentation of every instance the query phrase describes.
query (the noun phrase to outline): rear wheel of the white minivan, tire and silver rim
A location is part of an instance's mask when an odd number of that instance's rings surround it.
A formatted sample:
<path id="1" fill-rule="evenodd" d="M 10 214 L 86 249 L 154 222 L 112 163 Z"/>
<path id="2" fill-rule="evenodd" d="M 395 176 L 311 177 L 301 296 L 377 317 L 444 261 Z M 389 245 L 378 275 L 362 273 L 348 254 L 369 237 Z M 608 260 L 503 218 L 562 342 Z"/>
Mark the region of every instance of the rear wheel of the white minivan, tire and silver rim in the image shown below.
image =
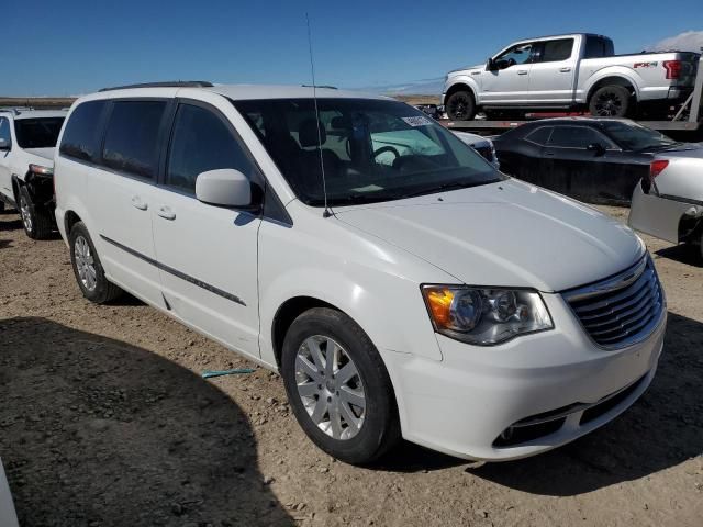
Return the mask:
<path id="1" fill-rule="evenodd" d="M 96 304 L 104 304 L 122 294 L 122 290 L 105 278 L 92 239 L 82 222 L 70 229 L 68 236 L 70 262 L 83 296 Z"/>

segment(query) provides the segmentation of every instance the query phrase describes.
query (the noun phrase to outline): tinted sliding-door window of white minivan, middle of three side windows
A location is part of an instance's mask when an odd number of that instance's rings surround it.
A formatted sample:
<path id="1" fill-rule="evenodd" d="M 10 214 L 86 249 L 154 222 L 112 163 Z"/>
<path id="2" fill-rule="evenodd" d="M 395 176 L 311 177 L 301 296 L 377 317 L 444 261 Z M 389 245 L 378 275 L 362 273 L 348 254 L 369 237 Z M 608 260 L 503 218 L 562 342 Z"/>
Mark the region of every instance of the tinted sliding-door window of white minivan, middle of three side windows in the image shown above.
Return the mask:
<path id="1" fill-rule="evenodd" d="M 166 101 L 118 101 L 114 103 L 102 149 L 109 168 L 154 179 L 158 131 Z"/>

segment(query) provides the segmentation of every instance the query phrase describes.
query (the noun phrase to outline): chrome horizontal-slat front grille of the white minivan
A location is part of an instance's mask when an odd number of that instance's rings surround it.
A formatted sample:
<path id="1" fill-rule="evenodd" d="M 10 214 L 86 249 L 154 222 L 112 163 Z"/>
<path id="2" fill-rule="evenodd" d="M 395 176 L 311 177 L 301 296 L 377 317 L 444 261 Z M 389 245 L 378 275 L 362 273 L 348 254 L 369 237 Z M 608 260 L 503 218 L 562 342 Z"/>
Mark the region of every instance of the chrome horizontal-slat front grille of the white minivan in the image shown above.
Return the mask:
<path id="1" fill-rule="evenodd" d="M 649 255 L 614 277 L 561 294 L 585 332 L 604 348 L 623 348 L 648 337 L 665 307 Z"/>

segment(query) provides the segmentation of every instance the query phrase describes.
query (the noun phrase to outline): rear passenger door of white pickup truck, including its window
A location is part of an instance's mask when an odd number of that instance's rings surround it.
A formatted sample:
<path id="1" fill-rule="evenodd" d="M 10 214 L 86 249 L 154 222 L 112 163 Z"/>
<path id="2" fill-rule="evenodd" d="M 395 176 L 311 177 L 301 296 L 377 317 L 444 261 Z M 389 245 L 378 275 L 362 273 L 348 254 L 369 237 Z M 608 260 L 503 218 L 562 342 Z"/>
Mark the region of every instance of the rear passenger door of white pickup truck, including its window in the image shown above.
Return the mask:
<path id="1" fill-rule="evenodd" d="M 571 104 L 574 96 L 579 46 L 573 37 L 535 44 L 529 70 L 529 100 L 534 103 Z"/>

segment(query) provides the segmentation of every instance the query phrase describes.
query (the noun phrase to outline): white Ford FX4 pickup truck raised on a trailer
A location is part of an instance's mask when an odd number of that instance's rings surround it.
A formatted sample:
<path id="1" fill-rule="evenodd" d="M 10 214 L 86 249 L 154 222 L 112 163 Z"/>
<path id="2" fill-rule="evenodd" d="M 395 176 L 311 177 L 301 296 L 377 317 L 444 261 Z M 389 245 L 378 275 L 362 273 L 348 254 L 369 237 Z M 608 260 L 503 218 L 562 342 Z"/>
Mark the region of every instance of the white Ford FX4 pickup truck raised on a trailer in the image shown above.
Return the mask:
<path id="1" fill-rule="evenodd" d="M 688 52 L 615 55 L 613 41 L 577 33 L 511 44 L 486 64 L 450 71 L 442 96 L 447 115 L 469 121 L 480 109 L 588 106 L 623 117 L 636 108 L 682 102 L 693 90 L 699 55 Z"/>

